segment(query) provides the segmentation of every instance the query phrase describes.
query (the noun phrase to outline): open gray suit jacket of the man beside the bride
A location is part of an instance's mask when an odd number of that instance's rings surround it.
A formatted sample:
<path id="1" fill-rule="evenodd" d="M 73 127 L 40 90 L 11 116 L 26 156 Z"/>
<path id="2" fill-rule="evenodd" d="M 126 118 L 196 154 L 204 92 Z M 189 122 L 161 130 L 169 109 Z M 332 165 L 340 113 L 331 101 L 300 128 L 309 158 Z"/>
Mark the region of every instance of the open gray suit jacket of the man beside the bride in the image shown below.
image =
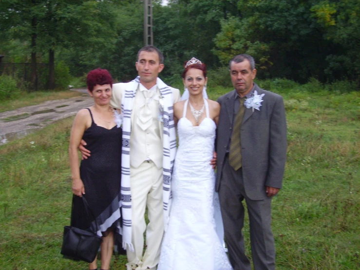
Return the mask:
<path id="1" fill-rule="evenodd" d="M 262 200 L 266 198 L 266 186 L 282 187 L 287 148 L 286 119 L 282 96 L 261 89 L 254 83 L 255 90 L 258 95 L 265 96 L 260 111 L 253 112 L 251 108 L 245 111 L 241 126 L 242 172 L 246 195 L 251 200 Z M 234 91 L 218 99 L 221 110 L 216 142 L 216 191 L 221 185 L 231 135 Z"/>

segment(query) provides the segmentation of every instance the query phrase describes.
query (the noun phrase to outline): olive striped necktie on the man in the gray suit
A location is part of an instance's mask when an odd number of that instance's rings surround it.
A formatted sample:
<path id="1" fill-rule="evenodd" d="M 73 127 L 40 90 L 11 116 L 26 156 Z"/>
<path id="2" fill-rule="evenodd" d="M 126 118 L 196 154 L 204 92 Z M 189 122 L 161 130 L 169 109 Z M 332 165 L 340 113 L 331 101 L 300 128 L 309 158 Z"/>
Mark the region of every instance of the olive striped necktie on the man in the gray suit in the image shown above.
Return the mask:
<path id="1" fill-rule="evenodd" d="M 239 98 L 239 97 L 238 97 Z M 230 153 L 229 153 L 229 163 L 235 171 L 239 170 L 242 166 L 241 163 L 241 124 L 245 115 L 245 102 L 246 97 L 240 97 L 240 107 L 237 115 L 235 116 L 234 129 L 231 135 L 230 142 Z"/>

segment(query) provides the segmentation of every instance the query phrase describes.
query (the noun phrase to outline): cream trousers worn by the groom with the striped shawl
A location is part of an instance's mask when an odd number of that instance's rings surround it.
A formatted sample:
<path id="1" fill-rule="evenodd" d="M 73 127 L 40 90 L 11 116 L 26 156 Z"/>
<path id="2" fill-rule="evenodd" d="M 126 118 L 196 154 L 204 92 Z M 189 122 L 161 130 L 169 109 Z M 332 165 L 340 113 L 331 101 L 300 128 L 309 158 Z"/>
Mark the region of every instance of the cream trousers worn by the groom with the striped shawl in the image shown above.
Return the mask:
<path id="1" fill-rule="evenodd" d="M 153 162 L 130 168 L 132 194 L 132 243 L 134 252 L 127 251 L 127 270 L 156 270 L 164 234 L 163 170 Z M 145 209 L 148 208 L 149 224 L 146 226 Z M 146 231 L 146 250 L 144 232 Z"/>

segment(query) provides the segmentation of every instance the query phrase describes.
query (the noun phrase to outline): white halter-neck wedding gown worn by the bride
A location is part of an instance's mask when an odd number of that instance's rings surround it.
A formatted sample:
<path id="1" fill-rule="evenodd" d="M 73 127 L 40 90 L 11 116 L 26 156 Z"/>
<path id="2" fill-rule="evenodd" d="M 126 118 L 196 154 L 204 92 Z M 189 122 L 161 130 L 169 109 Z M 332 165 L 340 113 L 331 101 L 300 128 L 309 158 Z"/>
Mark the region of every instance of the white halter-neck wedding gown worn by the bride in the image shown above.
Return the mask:
<path id="1" fill-rule="evenodd" d="M 170 221 L 157 270 L 232 270 L 223 246 L 217 194 L 214 200 L 215 173 L 210 165 L 216 125 L 204 99 L 207 117 L 192 126 L 185 117 L 188 101 L 177 124 L 179 147 L 171 180 Z"/>

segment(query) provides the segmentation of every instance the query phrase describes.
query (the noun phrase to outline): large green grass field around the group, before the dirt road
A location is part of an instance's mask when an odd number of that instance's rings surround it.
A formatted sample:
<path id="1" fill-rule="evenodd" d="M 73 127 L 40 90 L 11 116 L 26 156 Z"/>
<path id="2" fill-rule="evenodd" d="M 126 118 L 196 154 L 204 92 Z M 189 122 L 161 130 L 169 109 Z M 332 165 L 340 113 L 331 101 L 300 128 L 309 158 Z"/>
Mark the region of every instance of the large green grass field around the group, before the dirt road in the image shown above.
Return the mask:
<path id="1" fill-rule="evenodd" d="M 288 126 L 284 188 L 273 199 L 277 269 L 360 269 L 360 93 L 271 90 L 284 96 Z M 87 268 L 59 253 L 70 223 L 71 124 L 0 146 L 2 269 Z M 244 233 L 251 256 L 247 224 Z M 114 256 L 112 269 L 125 270 L 125 262 Z"/>

